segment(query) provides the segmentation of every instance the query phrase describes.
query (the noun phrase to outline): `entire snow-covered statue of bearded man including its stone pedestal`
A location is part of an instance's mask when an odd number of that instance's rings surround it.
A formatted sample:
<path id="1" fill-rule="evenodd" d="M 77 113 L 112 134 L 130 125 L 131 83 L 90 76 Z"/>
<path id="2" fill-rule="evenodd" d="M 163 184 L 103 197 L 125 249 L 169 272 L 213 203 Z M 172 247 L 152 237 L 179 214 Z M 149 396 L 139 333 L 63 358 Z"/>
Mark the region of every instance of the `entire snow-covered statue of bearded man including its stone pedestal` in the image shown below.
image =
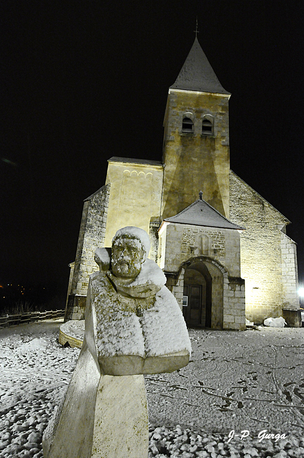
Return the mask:
<path id="1" fill-rule="evenodd" d="M 97 249 L 85 336 L 65 398 L 43 438 L 45 458 L 143 458 L 148 453 L 142 374 L 186 366 L 191 343 L 166 277 L 137 227 Z"/>

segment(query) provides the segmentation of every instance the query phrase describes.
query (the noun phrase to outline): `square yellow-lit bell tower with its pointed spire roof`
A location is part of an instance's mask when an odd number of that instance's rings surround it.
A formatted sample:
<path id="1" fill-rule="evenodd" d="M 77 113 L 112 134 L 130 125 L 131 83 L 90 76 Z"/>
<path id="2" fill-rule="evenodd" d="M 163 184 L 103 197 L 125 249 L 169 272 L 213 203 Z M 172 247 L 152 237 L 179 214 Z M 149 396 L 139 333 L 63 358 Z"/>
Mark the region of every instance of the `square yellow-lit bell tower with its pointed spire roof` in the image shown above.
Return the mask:
<path id="1" fill-rule="evenodd" d="M 162 219 L 203 199 L 229 218 L 230 93 L 218 81 L 197 37 L 175 83 L 164 119 Z"/>

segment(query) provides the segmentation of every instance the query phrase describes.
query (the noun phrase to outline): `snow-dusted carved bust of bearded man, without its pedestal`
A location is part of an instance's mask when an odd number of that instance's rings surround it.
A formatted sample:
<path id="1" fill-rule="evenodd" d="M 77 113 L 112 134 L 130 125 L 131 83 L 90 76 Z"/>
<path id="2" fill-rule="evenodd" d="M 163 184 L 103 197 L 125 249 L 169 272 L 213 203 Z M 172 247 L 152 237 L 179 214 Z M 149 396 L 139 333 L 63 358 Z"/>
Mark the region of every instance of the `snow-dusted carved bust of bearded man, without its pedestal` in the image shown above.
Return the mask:
<path id="1" fill-rule="evenodd" d="M 95 321 L 90 349 L 104 374 L 156 374 L 188 364 L 182 313 L 163 271 L 147 259 L 149 249 L 147 233 L 127 227 L 113 238 L 110 264 L 106 249 L 96 251 L 100 271 L 90 278 L 86 335 Z"/>

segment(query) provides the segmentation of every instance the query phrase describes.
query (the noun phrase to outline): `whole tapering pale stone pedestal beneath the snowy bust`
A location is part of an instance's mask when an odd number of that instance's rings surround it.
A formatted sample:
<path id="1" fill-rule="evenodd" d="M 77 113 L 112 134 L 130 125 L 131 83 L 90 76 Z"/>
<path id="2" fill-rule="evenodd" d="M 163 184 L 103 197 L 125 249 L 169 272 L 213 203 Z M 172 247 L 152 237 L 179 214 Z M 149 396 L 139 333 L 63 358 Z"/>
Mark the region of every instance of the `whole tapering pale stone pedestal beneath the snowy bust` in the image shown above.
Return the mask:
<path id="1" fill-rule="evenodd" d="M 43 437 L 44 458 L 147 458 L 143 375 L 100 375 L 84 348 Z"/>

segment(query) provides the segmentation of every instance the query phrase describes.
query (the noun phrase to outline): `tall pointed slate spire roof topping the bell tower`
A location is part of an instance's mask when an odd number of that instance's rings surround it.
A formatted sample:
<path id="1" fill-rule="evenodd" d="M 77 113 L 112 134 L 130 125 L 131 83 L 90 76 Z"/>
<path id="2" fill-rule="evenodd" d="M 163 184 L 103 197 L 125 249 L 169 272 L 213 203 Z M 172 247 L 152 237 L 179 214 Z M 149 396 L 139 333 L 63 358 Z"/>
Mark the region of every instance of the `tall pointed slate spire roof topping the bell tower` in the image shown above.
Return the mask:
<path id="1" fill-rule="evenodd" d="M 170 88 L 230 94 L 218 81 L 197 37 L 175 83 Z"/>

